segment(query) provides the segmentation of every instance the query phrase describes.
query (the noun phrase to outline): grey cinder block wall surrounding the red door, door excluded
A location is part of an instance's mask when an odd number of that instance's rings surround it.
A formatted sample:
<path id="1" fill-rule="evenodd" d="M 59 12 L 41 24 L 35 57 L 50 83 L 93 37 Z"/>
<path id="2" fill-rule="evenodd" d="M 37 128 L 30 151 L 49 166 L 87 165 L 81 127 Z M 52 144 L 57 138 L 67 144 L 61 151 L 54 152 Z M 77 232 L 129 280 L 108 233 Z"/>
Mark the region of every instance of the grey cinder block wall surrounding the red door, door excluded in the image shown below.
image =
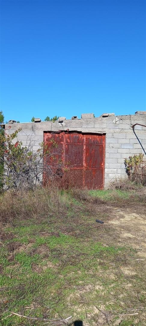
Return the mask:
<path id="1" fill-rule="evenodd" d="M 118 177 L 126 175 L 124 158 L 134 154 L 146 152 L 146 127 L 135 126 L 133 132 L 132 125 L 139 123 L 146 125 L 146 114 L 108 116 L 99 118 L 86 118 L 75 120 L 64 120 L 64 126 L 58 121 L 31 122 L 22 124 L 10 124 L 5 126 L 6 133 L 12 133 L 21 127 L 21 131 L 15 141 L 22 141 L 23 145 L 28 145 L 31 140 L 33 150 L 39 148 L 39 143 L 43 141 L 44 131 L 81 131 L 89 133 L 105 133 L 105 184 Z M 141 147 L 141 145 L 142 147 Z M 146 156 L 145 156 L 146 158 Z"/>

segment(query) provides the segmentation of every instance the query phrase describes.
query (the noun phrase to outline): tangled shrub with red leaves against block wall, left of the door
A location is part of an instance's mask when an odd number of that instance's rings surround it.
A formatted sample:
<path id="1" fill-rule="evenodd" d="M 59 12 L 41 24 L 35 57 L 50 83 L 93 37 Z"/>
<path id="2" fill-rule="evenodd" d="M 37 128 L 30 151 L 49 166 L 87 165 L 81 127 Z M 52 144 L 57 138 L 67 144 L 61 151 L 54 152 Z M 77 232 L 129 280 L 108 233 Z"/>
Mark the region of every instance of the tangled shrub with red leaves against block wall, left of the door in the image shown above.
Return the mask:
<path id="1" fill-rule="evenodd" d="M 10 126 L 9 126 L 10 128 Z M 31 144 L 22 146 L 22 142 L 14 141 L 19 128 L 11 135 L 0 134 L 0 163 L 5 162 L 4 173 L 0 177 L 7 188 L 31 188 L 40 179 L 37 164 L 42 158 L 40 150 L 33 153 Z"/>

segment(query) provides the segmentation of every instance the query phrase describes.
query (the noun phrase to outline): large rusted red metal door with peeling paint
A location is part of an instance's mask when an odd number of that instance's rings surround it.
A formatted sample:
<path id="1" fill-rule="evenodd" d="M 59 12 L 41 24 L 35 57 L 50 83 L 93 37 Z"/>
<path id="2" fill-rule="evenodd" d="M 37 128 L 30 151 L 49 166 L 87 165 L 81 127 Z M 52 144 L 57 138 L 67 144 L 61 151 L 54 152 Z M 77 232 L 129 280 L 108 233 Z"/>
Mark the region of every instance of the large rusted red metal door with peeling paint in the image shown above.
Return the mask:
<path id="1" fill-rule="evenodd" d="M 61 187 L 101 189 L 104 185 L 105 135 L 44 132 L 44 144 L 48 149 L 55 142 L 57 147 L 46 159 Z M 59 167 L 59 168 L 58 168 Z M 60 175 L 58 173 L 60 170 Z M 46 178 L 43 175 L 45 185 Z"/>

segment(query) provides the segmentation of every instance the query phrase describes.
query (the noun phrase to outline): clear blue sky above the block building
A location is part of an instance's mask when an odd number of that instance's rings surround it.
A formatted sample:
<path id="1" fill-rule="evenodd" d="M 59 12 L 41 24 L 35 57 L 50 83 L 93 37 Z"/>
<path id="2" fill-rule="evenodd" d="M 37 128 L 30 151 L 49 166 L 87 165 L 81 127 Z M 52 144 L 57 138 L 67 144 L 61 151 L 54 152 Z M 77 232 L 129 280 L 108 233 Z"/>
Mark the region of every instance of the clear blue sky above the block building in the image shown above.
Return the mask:
<path id="1" fill-rule="evenodd" d="M 146 110 L 145 1 L 1 1 L 5 120 Z"/>

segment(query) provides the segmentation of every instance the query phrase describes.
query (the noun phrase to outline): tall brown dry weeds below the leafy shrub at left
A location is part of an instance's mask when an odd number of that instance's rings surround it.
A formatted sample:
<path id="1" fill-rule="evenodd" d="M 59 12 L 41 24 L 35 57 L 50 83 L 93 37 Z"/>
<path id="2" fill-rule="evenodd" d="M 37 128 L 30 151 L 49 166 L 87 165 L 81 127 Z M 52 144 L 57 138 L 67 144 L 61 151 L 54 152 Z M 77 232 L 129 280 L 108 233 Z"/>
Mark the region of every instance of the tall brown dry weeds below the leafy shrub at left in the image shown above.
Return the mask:
<path id="1" fill-rule="evenodd" d="M 42 219 L 48 216 L 65 216 L 68 211 L 67 196 L 61 196 L 57 187 L 37 187 L 34 191 L 8 190 L 0 196 L 0 221 L 16 219 Z"/>

